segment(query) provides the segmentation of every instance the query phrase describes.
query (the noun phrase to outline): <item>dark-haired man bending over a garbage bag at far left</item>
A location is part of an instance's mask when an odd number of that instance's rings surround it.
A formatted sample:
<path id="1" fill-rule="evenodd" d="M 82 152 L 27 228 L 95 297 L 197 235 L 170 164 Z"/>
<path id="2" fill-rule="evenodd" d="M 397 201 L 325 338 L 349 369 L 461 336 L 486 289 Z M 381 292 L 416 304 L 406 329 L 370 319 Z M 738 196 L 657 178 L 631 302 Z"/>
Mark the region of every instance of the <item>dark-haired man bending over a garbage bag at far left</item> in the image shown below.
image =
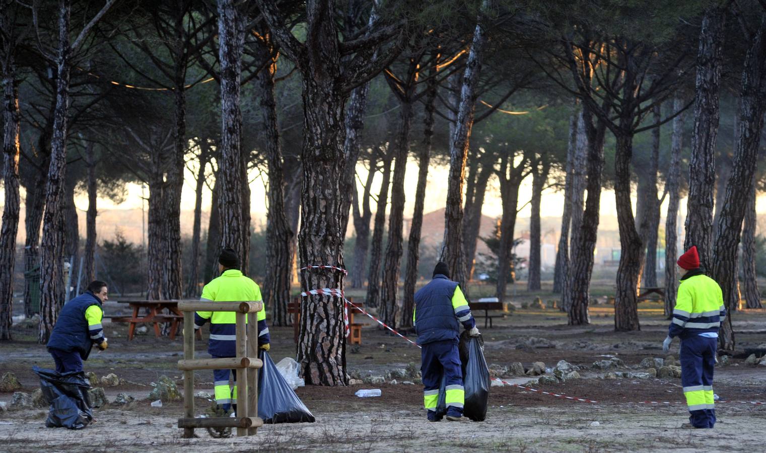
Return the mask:
<path id="1" fill-rule="evenodd" d="M 46 344 L 57 372 L 82 371 L 83 360 L 88 360 L 93 344 L 99 350 L 109 347 L 101 327 L 101 304 L 109 299 L 108 292 L 106 283 L 98 280 L 90 282 L 83 294 L 61 308 Z"/>

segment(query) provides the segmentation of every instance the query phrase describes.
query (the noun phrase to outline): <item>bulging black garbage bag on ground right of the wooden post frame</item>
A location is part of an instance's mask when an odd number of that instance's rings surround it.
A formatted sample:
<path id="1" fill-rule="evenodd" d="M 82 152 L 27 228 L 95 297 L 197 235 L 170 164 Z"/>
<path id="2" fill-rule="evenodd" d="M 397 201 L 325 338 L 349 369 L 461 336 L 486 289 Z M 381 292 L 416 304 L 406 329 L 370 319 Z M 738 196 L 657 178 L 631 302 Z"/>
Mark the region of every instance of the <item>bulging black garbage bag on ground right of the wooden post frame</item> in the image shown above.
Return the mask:
<path id="1" fill-rule="evenodd" d="M 258 416 L 264 423 L 313 423 L 314 416 L 282 377 L 269 354 L 260 350 L 259 358 L 264 367 L 258 373 Z"/>

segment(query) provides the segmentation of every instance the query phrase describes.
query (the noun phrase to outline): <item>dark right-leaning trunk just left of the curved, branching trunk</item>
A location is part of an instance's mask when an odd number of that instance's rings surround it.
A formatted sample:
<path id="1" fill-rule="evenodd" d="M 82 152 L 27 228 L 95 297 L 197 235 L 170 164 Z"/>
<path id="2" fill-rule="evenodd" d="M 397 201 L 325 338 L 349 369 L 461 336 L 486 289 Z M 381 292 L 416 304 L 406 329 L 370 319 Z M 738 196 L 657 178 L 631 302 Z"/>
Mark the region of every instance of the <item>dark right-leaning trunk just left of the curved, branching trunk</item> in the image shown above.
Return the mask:
<path id="1" fill-rule="evenodd" d="M 568 285 L 565 291 L 568 307 L 568 324 L 591 324 L 588 313 L 591 273 L 593 272 L 593 252 L 596 246 L 599 209 L 601 207 L 601 172 L 604 168 L 604 122 L 594 122 L 594 114 L 588 103 L 582 109 L 584 132 L 588 140 L 586 149 L 587 182 L 585 189 L 588 197 L 580 220 L 575 226 L 575 211 L 572 213 L 572 240 L 570 249 Z"/>

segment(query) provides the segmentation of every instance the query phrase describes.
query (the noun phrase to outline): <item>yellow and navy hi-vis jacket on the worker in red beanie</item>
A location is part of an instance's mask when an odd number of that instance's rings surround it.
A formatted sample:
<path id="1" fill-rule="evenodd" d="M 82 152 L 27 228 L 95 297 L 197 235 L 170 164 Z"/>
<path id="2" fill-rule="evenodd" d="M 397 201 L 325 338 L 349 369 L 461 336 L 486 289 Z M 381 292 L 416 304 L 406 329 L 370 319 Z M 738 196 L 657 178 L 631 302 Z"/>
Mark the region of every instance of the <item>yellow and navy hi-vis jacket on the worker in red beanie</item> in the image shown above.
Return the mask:
<path id="1" fill-rule="evenodd" d="M 684 338 L 705 332 L 718 333 L 726 318 L 721 287 L 702 269 L 686 272 L 678 287 L 668 336 Z"/>

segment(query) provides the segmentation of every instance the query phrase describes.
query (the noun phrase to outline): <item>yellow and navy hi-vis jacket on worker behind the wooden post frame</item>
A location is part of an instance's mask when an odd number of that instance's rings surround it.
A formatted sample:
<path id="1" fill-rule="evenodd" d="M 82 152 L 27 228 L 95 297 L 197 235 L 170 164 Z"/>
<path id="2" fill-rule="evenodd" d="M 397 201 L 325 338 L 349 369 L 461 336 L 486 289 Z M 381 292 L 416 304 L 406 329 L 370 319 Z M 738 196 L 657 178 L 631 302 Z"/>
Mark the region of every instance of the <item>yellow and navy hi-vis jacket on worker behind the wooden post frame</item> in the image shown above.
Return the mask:
<path id="1" fill-rule="evenodd" d="M 217 279 L 213 279 L 202 289 L 201 301 L 262 301 L 260 288 L 251 279 L 237 269 L 227 269 Z M 258 343 L 270 341 L 269 328 L 266 325 L 266 308 L 257 312 Z M 236 357 L 237 355 L 237 315 L 234 311 L 197 311 L 195 330 L 210 321 L 210 342 L 208 353 L 218 357 Z"/>

